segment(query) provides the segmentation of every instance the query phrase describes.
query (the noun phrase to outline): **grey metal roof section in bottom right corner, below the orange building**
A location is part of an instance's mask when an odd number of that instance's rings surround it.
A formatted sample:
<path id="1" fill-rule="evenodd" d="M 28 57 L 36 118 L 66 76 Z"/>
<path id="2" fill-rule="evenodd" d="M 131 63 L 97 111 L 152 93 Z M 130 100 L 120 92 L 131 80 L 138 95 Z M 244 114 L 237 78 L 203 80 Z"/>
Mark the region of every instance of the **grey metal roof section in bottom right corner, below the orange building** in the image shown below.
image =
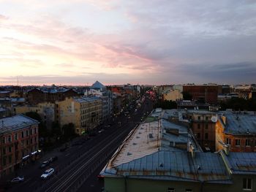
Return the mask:
<path id="1" fill-rule="evenodd" d="M 234 153 L 226 155 L 234 174 L 256 174 L 256 153 Z"/>

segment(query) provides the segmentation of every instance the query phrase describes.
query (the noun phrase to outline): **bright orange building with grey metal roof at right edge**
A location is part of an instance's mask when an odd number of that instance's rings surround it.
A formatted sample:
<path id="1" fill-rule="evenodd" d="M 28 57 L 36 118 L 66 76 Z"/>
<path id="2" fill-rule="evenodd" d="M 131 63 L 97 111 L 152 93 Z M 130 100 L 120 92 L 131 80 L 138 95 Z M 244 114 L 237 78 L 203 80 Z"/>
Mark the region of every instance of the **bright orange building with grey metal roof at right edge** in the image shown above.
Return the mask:
<path id="1" fill-rule="evenodd" d="M 256 115 L 248 112 L 219 112 L 216 150 L 256 152 Z"/>

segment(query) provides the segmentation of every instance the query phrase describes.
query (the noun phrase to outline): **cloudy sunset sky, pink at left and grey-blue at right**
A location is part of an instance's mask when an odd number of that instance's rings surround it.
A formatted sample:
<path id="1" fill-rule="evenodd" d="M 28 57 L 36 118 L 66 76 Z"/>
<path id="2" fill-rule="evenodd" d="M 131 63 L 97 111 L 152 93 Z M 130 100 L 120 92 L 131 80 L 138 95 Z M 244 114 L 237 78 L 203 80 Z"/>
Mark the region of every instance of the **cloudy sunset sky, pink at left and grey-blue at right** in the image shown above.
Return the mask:
<path id="1" fill-rule="evenodd" d="M 255 0 L 0 0 L 0 85 L 256 82 Z"/>

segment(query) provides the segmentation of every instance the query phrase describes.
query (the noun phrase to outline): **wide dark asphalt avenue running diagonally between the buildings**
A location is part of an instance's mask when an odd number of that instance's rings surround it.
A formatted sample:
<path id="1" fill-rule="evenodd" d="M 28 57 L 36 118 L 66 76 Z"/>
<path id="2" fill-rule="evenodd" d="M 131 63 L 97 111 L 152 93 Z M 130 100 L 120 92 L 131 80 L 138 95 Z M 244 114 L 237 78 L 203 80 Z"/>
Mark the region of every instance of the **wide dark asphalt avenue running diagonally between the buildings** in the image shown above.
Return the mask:
<path id="1" fill-rule="evenodd" d="M 24 175 L 26 180 L 15 184 L 9 191 L 101 191 L 104 183 L 97 179 L 97 175 L 129 132 L 141 122 L 140 118 L 151 110 L 152 102 L 146 99 L 138 112 L 132 110 L 130 118 L 121 115 L 112 126 L 104 128 L 104 131 L 95 137 L 87 141 L 80 137 L 64 152 L 56 149 L 51 155 L 57 155 L 59 158 L 48 166 L 55 169 L 55 173 L 48 180 L 40 178 L 48 167 L 39 169 L 39 162 L 23 167 L 20 174 Z M 121 122 L 121 125 L 118 122 Z M 83 144 L 72 146 L 78 141 L 83 141 Z M 49 154 L 46 154 L 40 162 L 49 157 Z"/>

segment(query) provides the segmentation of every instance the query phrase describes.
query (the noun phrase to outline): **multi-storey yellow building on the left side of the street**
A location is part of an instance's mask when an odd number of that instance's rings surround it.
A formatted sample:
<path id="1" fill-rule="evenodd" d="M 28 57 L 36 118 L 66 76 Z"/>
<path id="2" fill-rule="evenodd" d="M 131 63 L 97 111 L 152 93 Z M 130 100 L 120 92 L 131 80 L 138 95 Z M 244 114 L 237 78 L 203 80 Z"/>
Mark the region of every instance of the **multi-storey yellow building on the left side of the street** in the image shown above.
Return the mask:
<path id="1" fill-rule="evenodd" d="M 101 123 L 102 99 L 97 97 L 66 98 L 56 103 L 60 126 L 74 123 L 75 132 L 83 134 Z"/>

